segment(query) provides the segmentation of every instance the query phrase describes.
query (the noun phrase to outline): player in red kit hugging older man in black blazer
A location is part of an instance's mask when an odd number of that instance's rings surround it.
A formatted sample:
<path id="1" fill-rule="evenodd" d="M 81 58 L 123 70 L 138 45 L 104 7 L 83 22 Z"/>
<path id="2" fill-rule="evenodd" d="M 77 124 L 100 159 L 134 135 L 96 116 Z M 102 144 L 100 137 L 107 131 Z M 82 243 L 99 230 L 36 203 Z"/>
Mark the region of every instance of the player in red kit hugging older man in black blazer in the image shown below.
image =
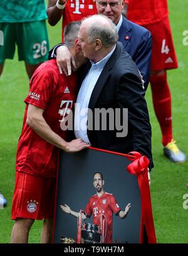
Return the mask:
<path id="1" fill-rule="evenodd" d="M 76 38 L 80 22 L 65 31 L 78 67 L 86 59 Z M 52 242 L 56 172 L 60 149 L 78 152 L 89 147 L 79 138 L 66 142 L 66 117 L 76 97 L 76 75 L 60 75 L 55 60 L 44 62 L 34 72 L 29 94 L 24 100 L 23 128 L 16 155 L 16 184 L 12 220 L 16 220 L 11 243 L 27 243 L 34 220 L 42 220 L 42 243 Z"/>

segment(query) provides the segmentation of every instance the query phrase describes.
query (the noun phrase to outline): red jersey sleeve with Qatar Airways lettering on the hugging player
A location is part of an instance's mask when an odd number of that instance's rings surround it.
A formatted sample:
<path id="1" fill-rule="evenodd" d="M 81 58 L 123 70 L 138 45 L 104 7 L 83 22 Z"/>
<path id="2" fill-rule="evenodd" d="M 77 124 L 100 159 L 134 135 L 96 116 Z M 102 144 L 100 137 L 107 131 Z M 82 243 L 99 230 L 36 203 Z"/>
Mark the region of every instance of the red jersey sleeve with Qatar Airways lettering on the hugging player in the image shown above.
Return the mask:
<path id="1" fill-rule="evenodd" d="M 50 100 L 53 85 L 55 84 L 53 70 L 48 69 L 47 62 L 40 65 L 31 77 L 29 94 L 24 102 L 45 109 Z"/>

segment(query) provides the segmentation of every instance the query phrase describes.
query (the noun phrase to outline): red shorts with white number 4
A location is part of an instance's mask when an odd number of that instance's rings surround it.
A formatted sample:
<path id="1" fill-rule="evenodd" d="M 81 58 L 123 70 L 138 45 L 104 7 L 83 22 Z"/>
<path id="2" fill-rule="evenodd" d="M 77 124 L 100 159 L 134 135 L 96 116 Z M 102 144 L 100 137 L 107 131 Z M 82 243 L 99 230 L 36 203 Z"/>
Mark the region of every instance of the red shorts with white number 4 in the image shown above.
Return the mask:
<path id="1" fill-rule="evenodd" d="M 152 62 L 151 70 L 177 69 L 169 17 L 158 23 L 144 25 L 152 34 Z"/>

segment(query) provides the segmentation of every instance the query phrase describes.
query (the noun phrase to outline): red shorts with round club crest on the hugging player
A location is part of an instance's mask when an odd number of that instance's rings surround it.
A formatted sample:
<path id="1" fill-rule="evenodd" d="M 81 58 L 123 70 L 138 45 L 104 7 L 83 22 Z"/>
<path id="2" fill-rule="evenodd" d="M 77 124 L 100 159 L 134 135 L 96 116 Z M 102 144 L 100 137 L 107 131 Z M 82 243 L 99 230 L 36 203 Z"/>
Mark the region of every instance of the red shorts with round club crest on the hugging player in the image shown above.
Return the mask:
<path id="1" fill-rule="evenodd" d="M 16 171 L 11 219 L 53 218 L 56 179 Z"/>

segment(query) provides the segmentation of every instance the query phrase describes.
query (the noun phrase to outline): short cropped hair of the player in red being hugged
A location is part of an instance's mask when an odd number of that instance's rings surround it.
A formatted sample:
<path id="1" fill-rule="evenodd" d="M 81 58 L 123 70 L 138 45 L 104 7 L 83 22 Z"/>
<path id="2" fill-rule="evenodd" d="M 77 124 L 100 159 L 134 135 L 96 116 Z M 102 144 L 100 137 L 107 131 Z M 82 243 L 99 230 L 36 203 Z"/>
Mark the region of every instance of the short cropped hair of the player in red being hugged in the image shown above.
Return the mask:
<path id="1" fill-rule="evenodd" d="M 68 47 L 71 47 L 75 43 L 75 39 L 78 36 L 80 30 L 81 21 L 72 21 L 64 30 L 65 43 Z"/>

